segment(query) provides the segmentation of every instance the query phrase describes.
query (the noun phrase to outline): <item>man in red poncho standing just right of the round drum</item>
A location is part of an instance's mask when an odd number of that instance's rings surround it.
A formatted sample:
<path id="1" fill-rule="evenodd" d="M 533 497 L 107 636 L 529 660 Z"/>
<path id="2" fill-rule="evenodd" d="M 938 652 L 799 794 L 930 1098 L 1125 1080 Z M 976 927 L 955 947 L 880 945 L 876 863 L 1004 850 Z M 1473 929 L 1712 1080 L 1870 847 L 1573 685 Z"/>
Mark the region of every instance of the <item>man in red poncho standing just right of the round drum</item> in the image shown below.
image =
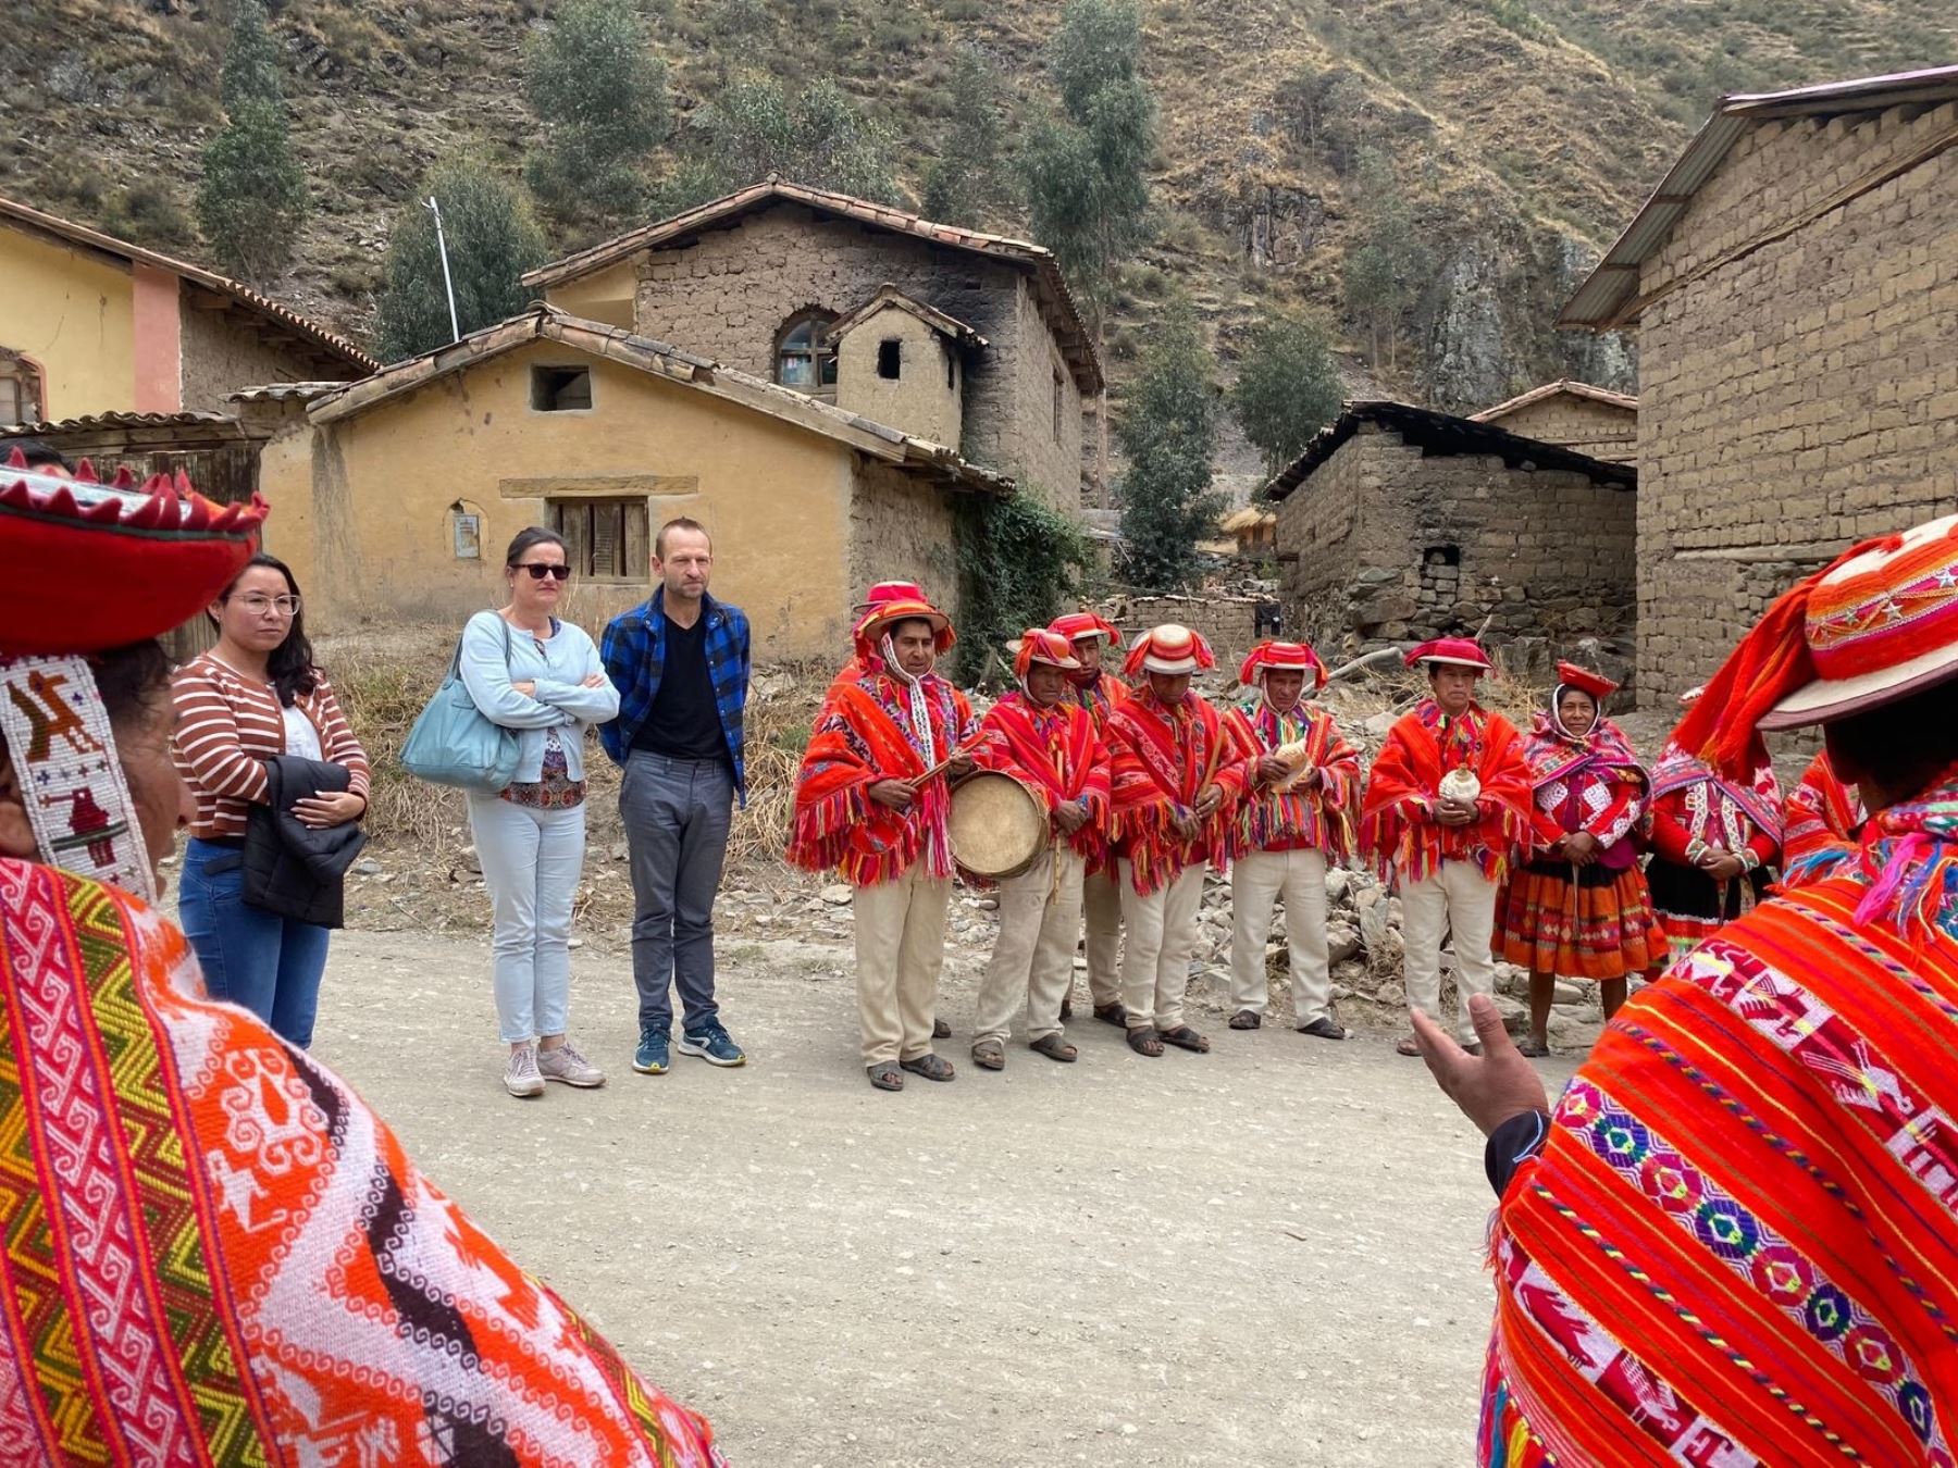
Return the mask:
<path id="1" fill-rule="evenodd" d="M 1075 1059 L 1061 1032 L 1061 1000 L 1075 977 L 1081 932 L 1081 877 L 1104 855 L 1108 750 L 1095 720 L 1067 699 L 1079 671 L 1067 638 L 1030 626 L 1012 648 L 1020 691 L 1006 693 L 979 720 L 973 759 L 1012 775 L 1040 797 L 1051 836 L 1034 865 L 999 885 L 999 938 L 979 981 L 973 1065 L 1006 1065 L 1006 1032 L 1026 998 L 1026 1039 L 1049 1061 Z"/>

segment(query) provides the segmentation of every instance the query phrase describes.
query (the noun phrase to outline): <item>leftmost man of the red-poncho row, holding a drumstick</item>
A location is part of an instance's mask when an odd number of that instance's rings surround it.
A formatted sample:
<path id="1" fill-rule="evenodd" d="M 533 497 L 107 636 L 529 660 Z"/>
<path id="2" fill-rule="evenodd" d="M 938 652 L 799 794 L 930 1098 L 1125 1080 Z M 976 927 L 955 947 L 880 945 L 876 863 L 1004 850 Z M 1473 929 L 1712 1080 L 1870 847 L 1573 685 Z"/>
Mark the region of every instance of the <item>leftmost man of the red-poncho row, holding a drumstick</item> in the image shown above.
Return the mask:
<path id="1" fill-rule="evenodd" d="M 858 622 L 862 673 L 830 685 L 795 781 L 789 861 L 838 869 L 856 916 L 863 1069 L 879 1090 L 910 1071 L 952 1080 L 932 1053 L 932 1008 L 952 900 L 948 779 L 973 767 L 965 695 L 934 671 L 952 620 L 893 597 Z"/>

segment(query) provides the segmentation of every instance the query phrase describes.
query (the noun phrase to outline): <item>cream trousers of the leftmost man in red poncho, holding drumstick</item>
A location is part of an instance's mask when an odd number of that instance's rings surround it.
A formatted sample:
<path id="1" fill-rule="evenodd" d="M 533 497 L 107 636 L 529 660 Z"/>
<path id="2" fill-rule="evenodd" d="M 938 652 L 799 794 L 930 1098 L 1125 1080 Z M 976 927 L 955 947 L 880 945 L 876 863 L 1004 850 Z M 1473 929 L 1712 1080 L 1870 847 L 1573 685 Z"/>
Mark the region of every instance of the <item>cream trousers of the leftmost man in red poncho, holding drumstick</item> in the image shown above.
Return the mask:
<path id="1" fill-rule="evenodd" d="M 850 895 L 863 1065 L 930 1055 L 950 902 L 952 879 L 934 879 L 922 861 L 912 861 L 895 881 Z"/>

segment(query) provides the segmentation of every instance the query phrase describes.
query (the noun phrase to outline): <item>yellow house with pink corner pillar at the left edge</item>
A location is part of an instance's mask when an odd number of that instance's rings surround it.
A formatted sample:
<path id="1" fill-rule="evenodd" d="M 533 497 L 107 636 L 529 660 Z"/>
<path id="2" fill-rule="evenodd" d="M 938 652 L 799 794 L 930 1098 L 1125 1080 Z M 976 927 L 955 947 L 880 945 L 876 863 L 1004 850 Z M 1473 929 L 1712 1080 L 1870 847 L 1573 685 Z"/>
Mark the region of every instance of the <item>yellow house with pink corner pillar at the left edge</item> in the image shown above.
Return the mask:
<path id="1" fill-rule="evenodd" d="M 0 425 L 221 411 L 378 366 L 251 286 L 0 198 Z"/>

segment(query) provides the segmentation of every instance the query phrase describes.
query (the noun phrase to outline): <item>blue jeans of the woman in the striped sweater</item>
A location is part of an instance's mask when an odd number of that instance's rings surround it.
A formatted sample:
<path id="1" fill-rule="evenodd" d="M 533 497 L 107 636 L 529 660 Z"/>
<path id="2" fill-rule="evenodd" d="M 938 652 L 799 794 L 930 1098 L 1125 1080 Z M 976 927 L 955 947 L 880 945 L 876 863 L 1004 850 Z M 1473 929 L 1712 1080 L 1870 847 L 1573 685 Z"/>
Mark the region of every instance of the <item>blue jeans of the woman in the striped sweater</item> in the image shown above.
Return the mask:
<path id="1" fill-rule="evenodd" d="M 211 998 L 245 1006 L 303 1049 L 313 1043 L 329 932 L 247 906 L 243 887 L 235 846 L 192 838 L 176 883 L 176 918 Z"/>

